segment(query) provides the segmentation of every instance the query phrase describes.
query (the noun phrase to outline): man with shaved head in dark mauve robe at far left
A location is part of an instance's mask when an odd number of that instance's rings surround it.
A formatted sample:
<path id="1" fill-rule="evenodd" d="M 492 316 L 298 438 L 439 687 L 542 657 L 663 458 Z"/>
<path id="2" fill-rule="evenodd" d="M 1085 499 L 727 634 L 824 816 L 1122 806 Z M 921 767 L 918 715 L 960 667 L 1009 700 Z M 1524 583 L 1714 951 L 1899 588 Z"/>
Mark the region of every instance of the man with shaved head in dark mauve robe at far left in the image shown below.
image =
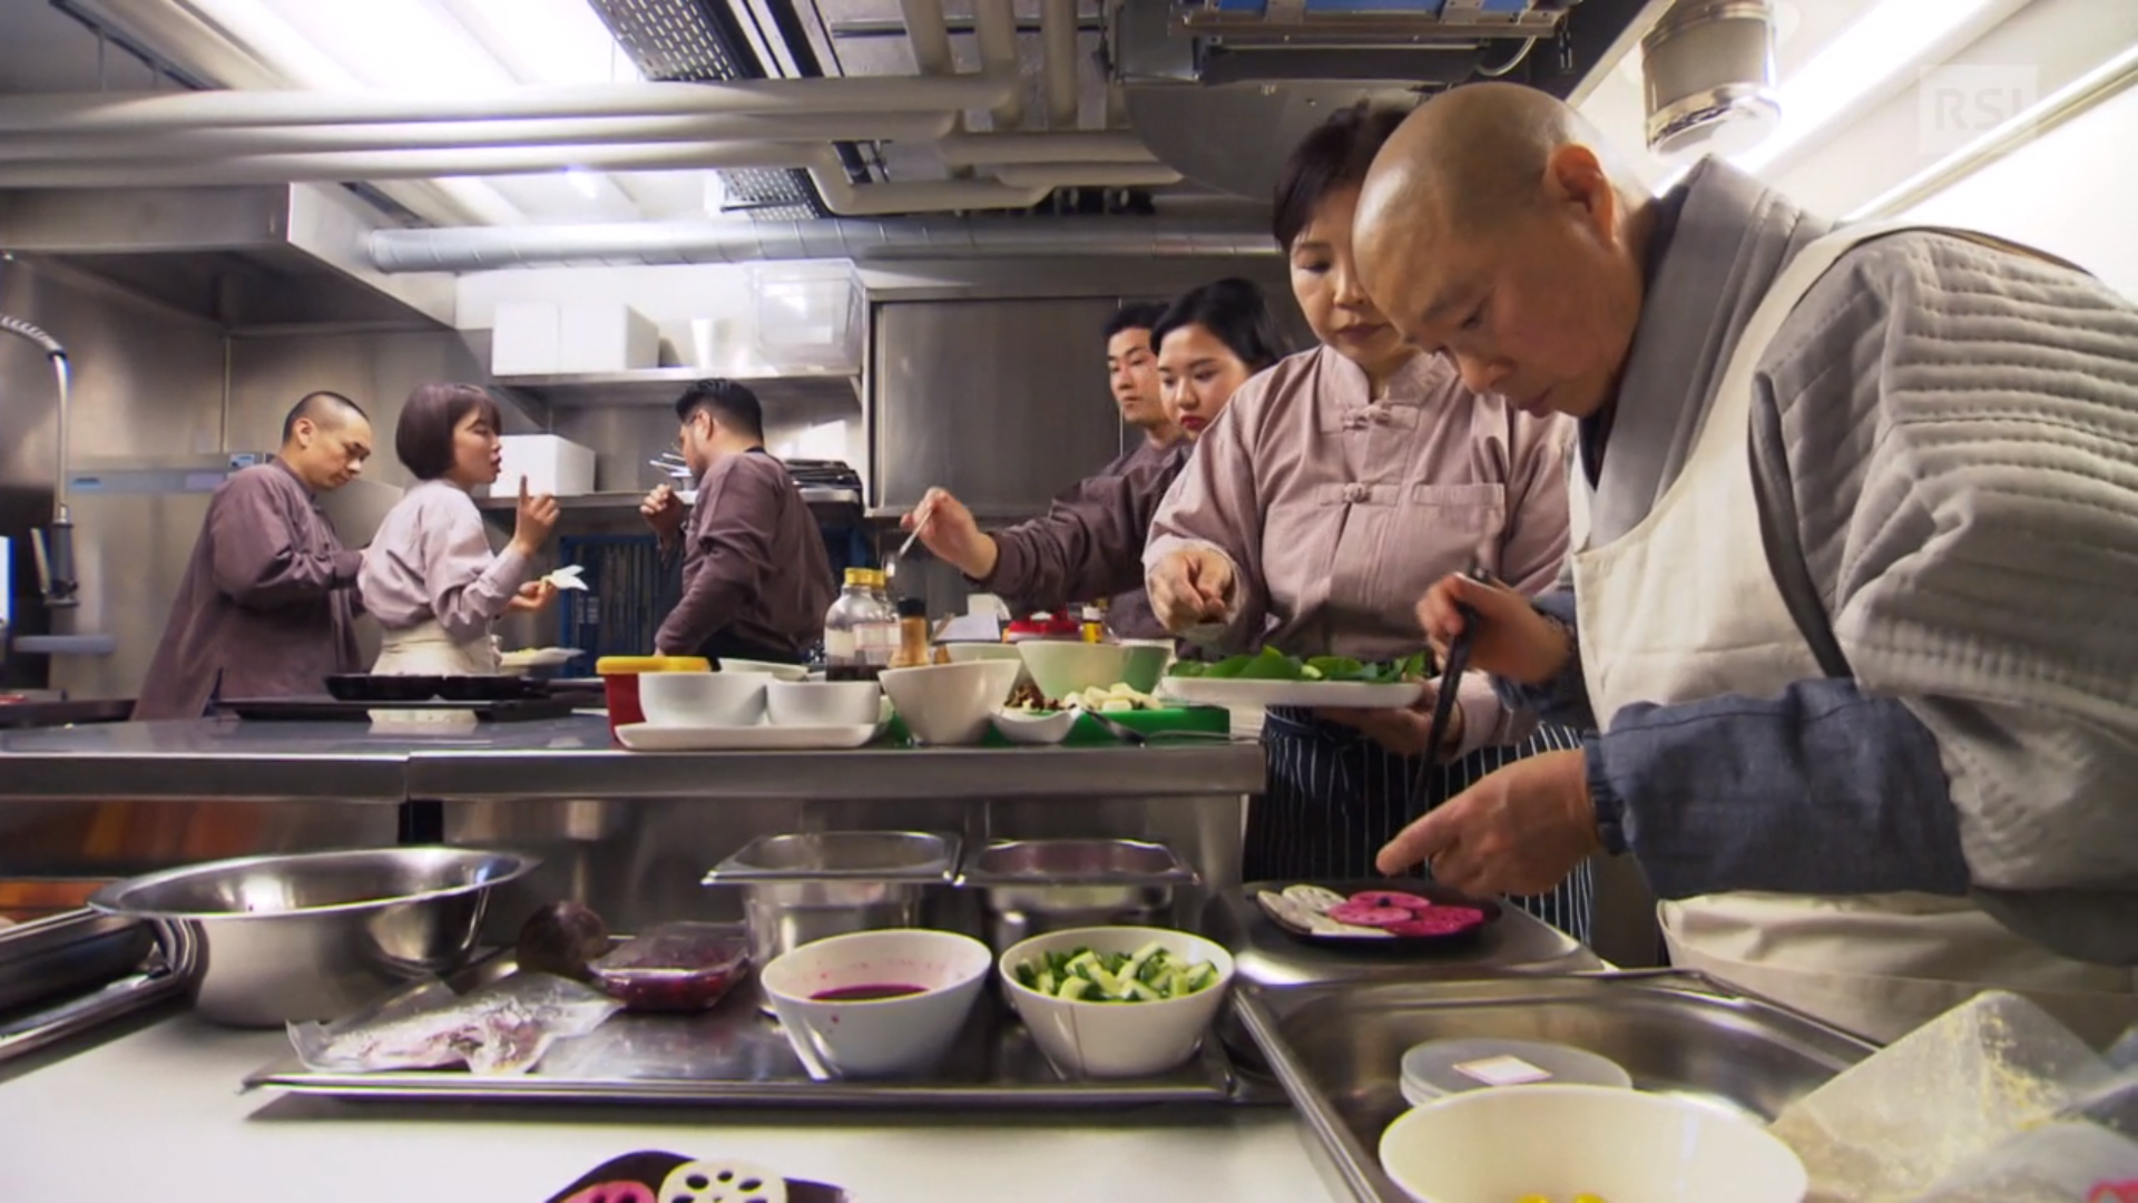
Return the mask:
<path id="1" fill-rule="evenodd" d="M 207 503 L 186 580 L 171 602 L 135 721 L 197 719 L 207 700 L 323 694 L 357 672 L 357 569 L 319 494 L 372 454 L 372 424 L 336 392 L 297 400 L 282 450 L 231 473 Z"/>

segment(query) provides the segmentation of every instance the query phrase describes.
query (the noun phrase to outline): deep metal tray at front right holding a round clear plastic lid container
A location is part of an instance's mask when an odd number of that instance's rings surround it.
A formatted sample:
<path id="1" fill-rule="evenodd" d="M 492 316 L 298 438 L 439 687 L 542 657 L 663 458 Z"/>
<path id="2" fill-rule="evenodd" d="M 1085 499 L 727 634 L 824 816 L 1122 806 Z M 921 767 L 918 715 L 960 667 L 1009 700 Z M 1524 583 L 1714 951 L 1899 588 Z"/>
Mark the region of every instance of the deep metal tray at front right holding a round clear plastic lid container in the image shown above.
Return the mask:
<path id="1" fill-rule="evenodd" d="M 1407 1203 L 1381 1130 L 1409 1109 L 1403 1053 L 1450 1036 L 1554 1040 L 1618 1062 L 1633 1087 L 1772 1120 L 1873 1047 L 1683 970 L 1246 987 L 1234 1012 L 1268 1057 L 1336 1199 Z"/>

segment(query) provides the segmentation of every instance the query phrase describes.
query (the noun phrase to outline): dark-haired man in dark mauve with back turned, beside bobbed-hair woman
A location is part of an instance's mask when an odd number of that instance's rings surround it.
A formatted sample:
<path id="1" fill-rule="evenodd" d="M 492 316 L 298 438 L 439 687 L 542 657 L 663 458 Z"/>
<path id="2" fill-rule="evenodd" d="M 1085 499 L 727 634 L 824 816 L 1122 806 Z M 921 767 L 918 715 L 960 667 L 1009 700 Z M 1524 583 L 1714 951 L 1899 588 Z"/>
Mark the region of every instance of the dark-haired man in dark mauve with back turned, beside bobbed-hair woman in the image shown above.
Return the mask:
<path id="1" fill-rule="evenodd" d="M 684 507 L 665 484 L 639 505 L 661 559 L 682 552 L 682 599 L 654 651 L 802 664 L 838 591 L 817 518 L 787 465 L 765 452 L 757 394 L 697 381 L 676 400 L 676 417 L 697 505 Z"/>

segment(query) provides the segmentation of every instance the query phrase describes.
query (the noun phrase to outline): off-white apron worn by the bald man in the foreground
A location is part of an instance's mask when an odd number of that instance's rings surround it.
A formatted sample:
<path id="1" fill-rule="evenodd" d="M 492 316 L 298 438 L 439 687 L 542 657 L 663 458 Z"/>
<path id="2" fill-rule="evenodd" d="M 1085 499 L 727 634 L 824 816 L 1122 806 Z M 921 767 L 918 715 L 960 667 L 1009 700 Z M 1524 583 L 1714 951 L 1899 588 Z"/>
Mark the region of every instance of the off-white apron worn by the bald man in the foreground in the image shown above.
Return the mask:
<path id="1" fill-rule="evenodd" d="M 1804 246 L 1745 328 L 1685 471 L 1638 527 L 1576 552 L 1582 670 L 1606 730 L 1629 702 L 1770 696 L 1826 676 L 1760 537 L 1753 370 L 1839 255 L 1899 229 L 1909 227 L 1858 225 Z M 1574 475 L 1586 499 L 1586 475 Z M 1657 912 L 1672 963 L 1879 1042 L 1986 987 L 2027 993 L 2095 1034 L 2138 1017 L 2132 970 L 2057 957 L 1967 899 L 1725 893 L 1666 901 Z"/>

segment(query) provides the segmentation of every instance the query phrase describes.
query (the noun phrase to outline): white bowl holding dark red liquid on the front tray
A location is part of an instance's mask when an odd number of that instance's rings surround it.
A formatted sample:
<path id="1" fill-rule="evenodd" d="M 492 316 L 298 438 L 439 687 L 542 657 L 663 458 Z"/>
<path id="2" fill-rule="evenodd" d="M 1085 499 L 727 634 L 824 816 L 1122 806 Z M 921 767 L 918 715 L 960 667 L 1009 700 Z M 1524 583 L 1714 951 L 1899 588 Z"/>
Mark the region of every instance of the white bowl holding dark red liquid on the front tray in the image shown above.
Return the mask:
<path id="1" fill-rule="evenodd" d="M 759 974 L 795 1055 L 840 1077 L 921 1072 L 958 1040 L 992 953 L 971 935 L 921 927 L 853 931 L 804 944 Z M 921 993 L 819 1002 L 834 989 L 904 985 Z"/>

